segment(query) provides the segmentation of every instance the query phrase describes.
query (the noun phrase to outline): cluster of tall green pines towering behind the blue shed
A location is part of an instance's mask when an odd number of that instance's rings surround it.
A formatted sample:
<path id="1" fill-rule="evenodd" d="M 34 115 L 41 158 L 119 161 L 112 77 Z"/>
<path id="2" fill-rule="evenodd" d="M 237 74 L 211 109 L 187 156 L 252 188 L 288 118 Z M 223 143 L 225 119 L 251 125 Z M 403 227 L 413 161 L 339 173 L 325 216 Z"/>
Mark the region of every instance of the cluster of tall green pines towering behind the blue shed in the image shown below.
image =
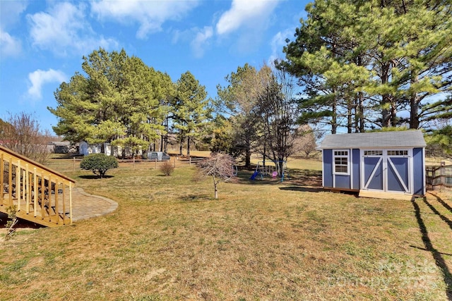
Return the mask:
<path id="1" fill-rule="evenodd" d="M 302 121 L 335 133 L 398 125 L 402 110 L 410 128 L 432 118 L 428 99 L 451 87 L 450 1 L 316 0 L 307 12 L 280 64 L 305 87 Z"/>

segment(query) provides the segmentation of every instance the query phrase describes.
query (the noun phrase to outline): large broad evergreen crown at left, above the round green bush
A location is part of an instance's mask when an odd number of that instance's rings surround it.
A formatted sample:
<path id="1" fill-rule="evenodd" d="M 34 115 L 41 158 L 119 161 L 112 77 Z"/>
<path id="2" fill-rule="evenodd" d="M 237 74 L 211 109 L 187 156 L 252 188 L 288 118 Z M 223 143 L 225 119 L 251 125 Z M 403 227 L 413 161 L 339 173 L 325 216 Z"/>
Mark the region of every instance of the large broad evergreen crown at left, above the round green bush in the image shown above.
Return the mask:
<path id="1" fill-rule="evenodd" d="M 169 82 L 135 56 L 122 51 L 93 51 L 83 57 L 83 72 L 61 83 L 56 108 L 48 108 L 59 118 L 54 126 L 66 140 L 145 149 L 165 130 L 165 98 Z"/>

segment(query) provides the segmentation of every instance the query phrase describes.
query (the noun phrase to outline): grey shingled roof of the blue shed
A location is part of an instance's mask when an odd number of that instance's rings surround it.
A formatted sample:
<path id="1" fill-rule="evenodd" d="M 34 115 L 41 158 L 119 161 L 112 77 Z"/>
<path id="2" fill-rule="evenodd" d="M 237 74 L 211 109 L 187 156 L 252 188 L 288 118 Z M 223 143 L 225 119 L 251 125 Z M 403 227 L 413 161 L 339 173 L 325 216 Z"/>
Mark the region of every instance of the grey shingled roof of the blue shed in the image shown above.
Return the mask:
<path id="1" fill-rule="evenodd" d="M 398 132 L 335 134 L 326 136 L 319 149 L 364 147 L 426 147 L 420 130 Z"/>

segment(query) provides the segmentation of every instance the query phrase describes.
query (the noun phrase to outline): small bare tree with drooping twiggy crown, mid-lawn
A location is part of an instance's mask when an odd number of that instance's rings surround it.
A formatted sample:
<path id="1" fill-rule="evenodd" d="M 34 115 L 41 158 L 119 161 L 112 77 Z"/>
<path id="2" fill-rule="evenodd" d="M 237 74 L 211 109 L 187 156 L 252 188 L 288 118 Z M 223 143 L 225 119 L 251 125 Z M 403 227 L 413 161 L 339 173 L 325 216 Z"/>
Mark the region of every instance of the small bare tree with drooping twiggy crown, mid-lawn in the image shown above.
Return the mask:
<path id="1" fill-rule="evenodd" d="M 218 184 L 234 176 L 234 159 L 229 154 L 212 154 L 198 165 L 197 178 L 212 177 L 215 199 L 218 199 Z"/>

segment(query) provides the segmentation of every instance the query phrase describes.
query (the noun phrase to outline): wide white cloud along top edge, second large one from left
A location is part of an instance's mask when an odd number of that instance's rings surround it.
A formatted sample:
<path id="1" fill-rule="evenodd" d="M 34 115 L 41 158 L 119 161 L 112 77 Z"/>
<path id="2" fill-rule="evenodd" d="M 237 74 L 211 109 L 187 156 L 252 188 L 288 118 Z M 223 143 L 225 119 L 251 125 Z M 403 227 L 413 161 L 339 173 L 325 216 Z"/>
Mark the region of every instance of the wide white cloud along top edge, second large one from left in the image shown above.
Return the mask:
<path id="1" fill-rule="evenodd" d="M 162 0 L 101 0 L 92 1 L 91 10 L 100 20 L 117 20 L 120 23 L 139 23 L 136 37 L 145 39 L 149 33 L 162 30 L 167 20 L 180 20 L 198 1 Z"/>

